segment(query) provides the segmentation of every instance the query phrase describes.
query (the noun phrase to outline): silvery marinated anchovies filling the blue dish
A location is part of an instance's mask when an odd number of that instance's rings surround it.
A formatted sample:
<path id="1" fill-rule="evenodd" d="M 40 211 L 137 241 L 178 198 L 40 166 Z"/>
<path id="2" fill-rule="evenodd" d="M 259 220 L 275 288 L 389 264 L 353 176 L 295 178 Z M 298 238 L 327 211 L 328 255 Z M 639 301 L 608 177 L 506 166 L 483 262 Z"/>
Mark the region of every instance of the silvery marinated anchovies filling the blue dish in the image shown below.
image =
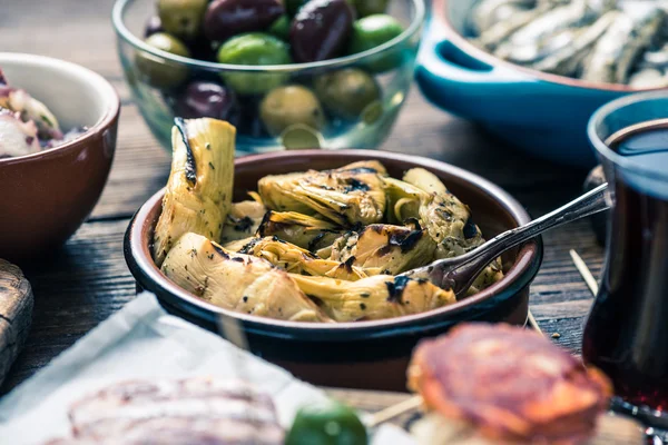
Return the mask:
<path id="1" fill-rule="evenodd" d="M 514 12 L 500 17 L 510 7 Z M 662 88 L 667 17 L 660 0 L 483 0 L 471 11 L 468 33 L 494 56 L 539 71 Z"/>

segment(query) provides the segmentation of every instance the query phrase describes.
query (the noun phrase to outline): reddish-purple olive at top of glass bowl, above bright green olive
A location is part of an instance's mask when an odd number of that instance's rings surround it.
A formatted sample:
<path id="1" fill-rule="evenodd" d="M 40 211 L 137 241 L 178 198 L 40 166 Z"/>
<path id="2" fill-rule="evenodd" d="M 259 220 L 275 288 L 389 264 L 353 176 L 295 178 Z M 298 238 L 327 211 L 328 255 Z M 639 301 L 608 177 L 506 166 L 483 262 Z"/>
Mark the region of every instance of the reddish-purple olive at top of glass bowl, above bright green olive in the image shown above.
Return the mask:
<path id="1" fill-rule="evenodd" d="M 214 0 L 204 16 L 204 33 L 223 41 L 242 32 L 268 28 L 285 8 L 278 0 Z"/>

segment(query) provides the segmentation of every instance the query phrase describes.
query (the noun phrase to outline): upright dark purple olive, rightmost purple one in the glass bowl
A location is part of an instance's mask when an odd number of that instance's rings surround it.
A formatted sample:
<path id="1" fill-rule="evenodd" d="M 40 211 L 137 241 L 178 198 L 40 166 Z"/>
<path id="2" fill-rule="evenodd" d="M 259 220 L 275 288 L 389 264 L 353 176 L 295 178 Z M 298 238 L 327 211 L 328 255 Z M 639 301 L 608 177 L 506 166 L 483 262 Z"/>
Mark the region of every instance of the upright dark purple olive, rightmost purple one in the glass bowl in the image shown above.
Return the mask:
<path id="1" fill-rule="evenodd" d="M 289 32 L 293 57 L 313 62 L 340 56 L 353 28 L 347 0 L 312 0 L 295 16 Z"/>

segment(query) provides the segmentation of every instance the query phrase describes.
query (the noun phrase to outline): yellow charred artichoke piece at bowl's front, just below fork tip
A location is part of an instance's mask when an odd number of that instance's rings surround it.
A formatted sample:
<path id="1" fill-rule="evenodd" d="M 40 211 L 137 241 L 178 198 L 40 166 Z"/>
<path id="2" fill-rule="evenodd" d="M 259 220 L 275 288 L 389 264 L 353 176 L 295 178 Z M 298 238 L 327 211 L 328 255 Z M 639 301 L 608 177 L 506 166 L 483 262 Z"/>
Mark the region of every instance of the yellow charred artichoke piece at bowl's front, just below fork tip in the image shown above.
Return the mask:
<path id="1" fill-rule="evenodd" d="M 455 303 L 451 290 L 428 280 L 377 275 L 357 281 L 292 275 L 336 322 L 373 320 L 419 314 Z"/>

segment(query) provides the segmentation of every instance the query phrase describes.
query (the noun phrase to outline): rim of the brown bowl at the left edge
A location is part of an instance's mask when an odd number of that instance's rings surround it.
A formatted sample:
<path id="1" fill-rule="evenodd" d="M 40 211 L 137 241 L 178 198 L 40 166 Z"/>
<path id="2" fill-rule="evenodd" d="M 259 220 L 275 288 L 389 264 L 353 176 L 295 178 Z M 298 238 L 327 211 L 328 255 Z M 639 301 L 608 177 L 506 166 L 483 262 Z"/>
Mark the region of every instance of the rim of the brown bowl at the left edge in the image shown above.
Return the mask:
<path id="1" fill-rule="evenodd" d="M 98 121 L 92 127 L 90 127 L 82 135 L 76 137 L 75 139 L 66 142 L 66 144 L 62 144 L 60 146 L 48 148 L 46 150 L 41 150 L 41 151 L 35 152 L 35 154 L 23 155 L 23 156 L 14 156 L 11 158 L 1 158 L 0 166 L 14 164 L 14 162 L 21 162 L 21 161 L 28 160 L 28 159 L 40 159 L 40 158 L 50 156 L 55 151 L 65 151 L 69 148 L 79 146 L 86 139 L 94 137 L 96 135 L 99 135 L 101 131 L 107 129 L 120 113 L 120 98 L 118 97 L 118 92 L 116 92 L 116 89 L 111 86 L 111 83 L 109 83 L 109 81 L 107 79 L 105 79 L 102 76 L 98 75 L 97 72 L 89 70 L 88 68 L 81 67 L 80 65 L 77 65 L 77 63 L 68 62 L 68 61 L 60 60 L 60 59 L 55 59 L 52 57 L 47 57 L 47 56 L 28 55 L 28 53 L 21 53 L 21 52 L 0 52 L 0 58 L 2 58 L 3 56 L 10 56 L 12 59 L 19 60 L 19 61 L 23 60 L 27 62 L 35 62 L 36 65 L 40 65 L 40 63 L 45 63 L 45 62 L 58 63 L 58 65 L 66 67 L 70 71 L 75 71 L 75 70 L 80 71 L 80 72 L 84 72 L 88 77 L 96 78 L 98 81 L 100 81 L 100 85 L 104 85 L 105 89 L 107 89 L 106 92 L 104 92 L 101 90 L 97 90 L 97 92 L 99 92 L 100 95 L 102 95 L 102 93 L 108 95 L 110 98 L 111 107 L 107 108 L 107 110 L 100 116 Z M 30 92 L 30 91 L 28 91 L 28 92 Z M 39 100 L 39 98 L 36 98 L 36 99 Z"/>

